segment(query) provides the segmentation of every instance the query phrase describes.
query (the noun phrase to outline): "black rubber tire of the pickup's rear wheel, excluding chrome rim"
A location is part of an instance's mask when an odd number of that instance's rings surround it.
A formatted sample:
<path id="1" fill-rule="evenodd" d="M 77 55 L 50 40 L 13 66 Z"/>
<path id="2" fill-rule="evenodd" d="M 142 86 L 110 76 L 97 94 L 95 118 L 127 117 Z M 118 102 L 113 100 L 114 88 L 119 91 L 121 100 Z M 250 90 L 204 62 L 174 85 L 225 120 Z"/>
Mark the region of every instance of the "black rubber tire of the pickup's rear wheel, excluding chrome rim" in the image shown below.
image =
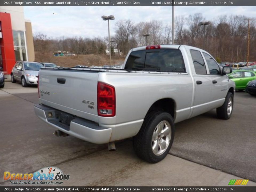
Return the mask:
<path id="1" fill-rule="evenodd" d="M 165 149 L 162 151 L 162 153 L 159 153 L 156 155 L 153 152 L 153 143 L 158 142 L 158 141 L 152 141 L 153 139 L 153 134 L 157 132 L 156 130 L 157 125 L 162 122 L 168 122 L 169 125 L 171 126 L 169 131 L 170 134 L 169 136 L 159 138 L 160 134 L 156 136 L 156 140 L 162 141 L 164 139 L 168 140 L 169 143 L 166 144 Z M 165 126 L 167 124 L 164 124 L 164 127 L 162 130 L 167 129 L 168 127 Z M 161 132 L 163 133 L 163 132 Z M 167 139 L 167 137 L 170 138 Z M 160 140 L 159 140 L 160 139 Z M 162 139 L 162 140 L 161 140 Z M 166 155 L 169 153 L 171 149 L 171 145 L 173 144 L 173 139 L 174 139 L 174 121 L 173 117 L 166 112 L 163 111 L 152 111 L 148 113 L 144 119 L 144 122 L 141 126 L 141 129 L 139 130 L 139 133 L 133 138 L 133 148 L 135 153 L 140 157 L 141 159 L 149 162 L 149 163 L 157 163 L 161 160 L 163 160 Z M 156 144 L 158 150 L 161 150 L 160 144 Z"/>

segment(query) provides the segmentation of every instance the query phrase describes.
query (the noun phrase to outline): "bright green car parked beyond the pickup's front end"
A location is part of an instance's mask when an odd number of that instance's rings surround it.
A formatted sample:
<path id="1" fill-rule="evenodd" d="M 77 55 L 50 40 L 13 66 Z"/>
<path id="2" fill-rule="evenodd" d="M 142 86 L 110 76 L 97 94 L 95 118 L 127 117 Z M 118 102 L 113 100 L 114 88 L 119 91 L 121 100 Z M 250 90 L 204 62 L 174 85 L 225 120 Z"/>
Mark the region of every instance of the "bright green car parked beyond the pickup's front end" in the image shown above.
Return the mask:
<path id="1" fill-rule="evenodd" d="M 235 89 L 244 90 L 249 81 L 256 79 L 256 71 L 233 70 L 228 77 L 235 82 Z"/>

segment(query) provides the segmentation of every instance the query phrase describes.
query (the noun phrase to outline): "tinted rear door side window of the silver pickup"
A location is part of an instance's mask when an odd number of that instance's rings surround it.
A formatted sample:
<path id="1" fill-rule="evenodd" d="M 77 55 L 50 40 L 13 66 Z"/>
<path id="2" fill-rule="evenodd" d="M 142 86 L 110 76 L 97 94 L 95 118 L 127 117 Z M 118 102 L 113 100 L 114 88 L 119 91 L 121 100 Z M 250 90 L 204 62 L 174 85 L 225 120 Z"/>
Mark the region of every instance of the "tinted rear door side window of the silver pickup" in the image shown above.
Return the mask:
<path id="1" fill-rule="evenodd" d="M 205 62 L 203 61 L 203 57 L 200 51 L 191 49 L 190 54 L 193 59 L 195 73 L 198 75 L 206 75 L 207 72 L 206 72 Z"/>

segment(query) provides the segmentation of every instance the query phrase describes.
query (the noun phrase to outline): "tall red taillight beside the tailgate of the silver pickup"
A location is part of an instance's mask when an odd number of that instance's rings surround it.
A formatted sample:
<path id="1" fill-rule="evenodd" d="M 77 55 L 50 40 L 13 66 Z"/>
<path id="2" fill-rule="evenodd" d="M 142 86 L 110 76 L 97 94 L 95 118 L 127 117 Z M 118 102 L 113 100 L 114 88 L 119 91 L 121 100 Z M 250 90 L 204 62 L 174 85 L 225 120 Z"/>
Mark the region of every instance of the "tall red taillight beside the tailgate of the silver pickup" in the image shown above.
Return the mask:
<path id="1" fill-rule="evenodd" d="M 98 115 L 103 117 L 115 116 L 115 87 L 98 82 L 97 90 Z"/>

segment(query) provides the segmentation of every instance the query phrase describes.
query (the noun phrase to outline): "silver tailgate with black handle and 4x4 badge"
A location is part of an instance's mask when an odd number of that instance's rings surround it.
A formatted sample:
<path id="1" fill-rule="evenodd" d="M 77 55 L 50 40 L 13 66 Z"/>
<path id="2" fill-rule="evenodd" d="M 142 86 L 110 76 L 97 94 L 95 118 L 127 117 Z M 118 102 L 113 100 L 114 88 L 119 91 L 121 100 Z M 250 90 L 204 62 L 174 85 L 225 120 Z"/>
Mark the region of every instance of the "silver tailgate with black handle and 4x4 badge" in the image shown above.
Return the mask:
<path id="1" fill-rule="evenodd" d="M 98 71 L 41 69 L 40 102 L 44 105 L 98 122 Z"/>

